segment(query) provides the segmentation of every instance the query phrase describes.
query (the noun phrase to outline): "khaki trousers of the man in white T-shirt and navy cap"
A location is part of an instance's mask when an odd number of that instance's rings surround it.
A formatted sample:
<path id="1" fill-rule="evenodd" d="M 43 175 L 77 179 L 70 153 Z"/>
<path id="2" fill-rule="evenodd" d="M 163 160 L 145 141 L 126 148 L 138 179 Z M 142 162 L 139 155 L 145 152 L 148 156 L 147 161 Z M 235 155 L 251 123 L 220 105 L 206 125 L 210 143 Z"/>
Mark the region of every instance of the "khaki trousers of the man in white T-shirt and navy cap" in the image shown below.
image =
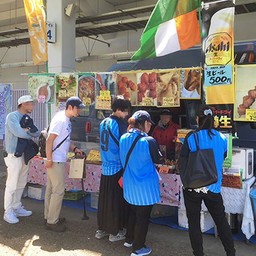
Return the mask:
<path id="1" fill-rule="evenodd" d="M 46 161 L 45 161 L 46 163 Z M 56 224 L 60 217 L 62 199 L 65 190 L 65 163 L 53 162 L 47 168 L 47 185 L 44 198 L 44 218 L 47 223 Z"/>

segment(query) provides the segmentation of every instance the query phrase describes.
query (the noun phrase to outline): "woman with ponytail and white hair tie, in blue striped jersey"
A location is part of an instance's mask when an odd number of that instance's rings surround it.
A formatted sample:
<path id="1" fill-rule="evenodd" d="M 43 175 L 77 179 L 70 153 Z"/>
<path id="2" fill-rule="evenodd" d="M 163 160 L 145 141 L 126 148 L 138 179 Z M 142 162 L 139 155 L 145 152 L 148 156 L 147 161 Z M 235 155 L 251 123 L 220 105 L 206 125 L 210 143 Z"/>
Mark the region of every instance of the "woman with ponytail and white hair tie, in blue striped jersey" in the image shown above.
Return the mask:
<path id="1" fill-rule="evenodd" d="M 195 256 L 203 256 L 203 240 L 200 229 L 201 203 L 204 200 L 210 212 L 224 246 L 227 256 L 234 256 L 234 241 L 230 226 L 225 217 L 224 205 L 220 194 L 220 184 L 222 180 L 222 163 L 226 157 L 227 140 L 224 134 L 213 129 L 214 116 L 212 109 L 207 105 L 199 105 L 195 112 L 198 128 L 198 145 L 200 149 L 212 148 L 218 181 L 204 188 L 194 190 L 183 189 L 186 214 L 188 217 L 188 231 L 190 242 Z M 189 152 L 196 151 L 196 144 L 192 132 L 186 135 L 180 156 L 188 156 Z"/>

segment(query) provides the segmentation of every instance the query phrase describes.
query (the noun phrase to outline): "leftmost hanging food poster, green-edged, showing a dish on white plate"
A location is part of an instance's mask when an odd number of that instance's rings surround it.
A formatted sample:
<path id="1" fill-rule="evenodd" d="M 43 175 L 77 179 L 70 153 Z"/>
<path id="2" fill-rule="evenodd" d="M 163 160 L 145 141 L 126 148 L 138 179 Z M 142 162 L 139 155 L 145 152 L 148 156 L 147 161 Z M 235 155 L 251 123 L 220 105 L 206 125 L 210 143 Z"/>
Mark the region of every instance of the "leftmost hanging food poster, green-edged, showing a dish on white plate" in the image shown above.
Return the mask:
<path id="1" fill-rule="evenodd" d="M 28 74 L 28 94 L 38 103 L 54 103 L 54 74 Z"/>

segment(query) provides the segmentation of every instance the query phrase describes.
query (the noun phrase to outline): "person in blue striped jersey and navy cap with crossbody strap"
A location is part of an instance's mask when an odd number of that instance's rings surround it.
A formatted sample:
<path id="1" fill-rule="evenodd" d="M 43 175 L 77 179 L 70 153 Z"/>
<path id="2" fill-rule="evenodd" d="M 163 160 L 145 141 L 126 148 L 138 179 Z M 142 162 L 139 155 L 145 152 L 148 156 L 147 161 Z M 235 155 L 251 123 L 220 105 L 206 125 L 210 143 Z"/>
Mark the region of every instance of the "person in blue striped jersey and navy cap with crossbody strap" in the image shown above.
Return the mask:
<path id="1" fill-rule="evenodd" d="M 124 168 L 126 156 L 138 138 L 123 174 L 124 199 L 130 204 L 127 236 L 124 246 L 132 247 L 131 256 L 148 255 L 151 248 L 145 245 L 150 212 L 160 200 L 158 172 L 154 164 L 164 162 L 156 140 L 148 136 L 151 124 L 150 114 L 136 111 L 128 120 L 129 131 L 120 138 L 120 158 Z"/>

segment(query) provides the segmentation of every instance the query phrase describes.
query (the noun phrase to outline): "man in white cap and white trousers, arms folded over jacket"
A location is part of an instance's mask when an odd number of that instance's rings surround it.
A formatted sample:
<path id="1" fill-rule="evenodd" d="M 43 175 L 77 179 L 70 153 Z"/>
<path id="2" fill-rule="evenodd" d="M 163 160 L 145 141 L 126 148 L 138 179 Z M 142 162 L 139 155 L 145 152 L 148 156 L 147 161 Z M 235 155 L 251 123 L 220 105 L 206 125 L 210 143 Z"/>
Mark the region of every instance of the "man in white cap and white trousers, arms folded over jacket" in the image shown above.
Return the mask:
<path id="1" fill-rule="evenodd" d="M 4 220 L 8 223 L 18 223 L 17 217 L 30 216 L 31 211 L 25 210 L 21 203 L 22 192 L 27 183 L 28 167 L 24 163 L 24 154 L 14 156 L 18 138 L 31 139 L 38 137 L 40 130 L 30 132 L 29 128 L 22 128 L 20 120 L 24 114 L 31 113 L 34 103 L 30 95 L 21 96 L 18 99 L 18 110 L 11 112 L 6 117 L 5 124 L 5 148 L 4 162 L 7 166 L 7 180 L 4 192 Z"/>

